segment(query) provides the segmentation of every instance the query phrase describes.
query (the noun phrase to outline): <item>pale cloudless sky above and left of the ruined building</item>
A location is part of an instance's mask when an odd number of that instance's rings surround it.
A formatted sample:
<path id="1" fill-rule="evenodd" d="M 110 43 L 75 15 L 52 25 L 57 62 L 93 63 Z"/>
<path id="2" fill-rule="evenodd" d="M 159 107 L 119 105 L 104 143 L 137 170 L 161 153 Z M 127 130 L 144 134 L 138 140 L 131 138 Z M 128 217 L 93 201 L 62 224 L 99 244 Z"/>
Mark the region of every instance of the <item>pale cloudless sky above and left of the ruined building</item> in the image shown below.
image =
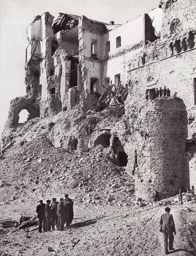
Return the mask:
<path id="1" fill-rule="evenodd" d="M 49 11 L 85 15 L 122 24 L 158 7 L 160 0 L 0 0 L 0 133 L 11 99 L 25 95 L 26 28 L 35 16 Z"/>

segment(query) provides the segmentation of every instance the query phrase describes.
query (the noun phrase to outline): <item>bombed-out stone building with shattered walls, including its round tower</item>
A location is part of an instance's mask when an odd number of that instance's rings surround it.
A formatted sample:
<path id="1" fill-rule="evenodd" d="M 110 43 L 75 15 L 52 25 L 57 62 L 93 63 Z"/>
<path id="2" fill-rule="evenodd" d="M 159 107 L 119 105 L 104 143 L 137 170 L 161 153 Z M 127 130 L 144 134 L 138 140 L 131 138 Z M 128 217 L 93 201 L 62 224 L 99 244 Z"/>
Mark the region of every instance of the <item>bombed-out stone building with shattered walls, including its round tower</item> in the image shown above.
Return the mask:
<path id="1" fill-rule="evenodd" d="M 55 119 L 56 147 L 102 144 L 134 175 L 137 196 L 150 199 L 156 190 L 164 198 L 196 187 L 195 0 L 162 0 L 125 24 L 65 13 L 54 20 L 46 12 L 27 27 L 27 38 L 27 94 L 11 102 L 5 144 L 18 136 L 18 114 L 26 109 L 28 120 Z M 125 114 L 79 136 L 74 121 L 66 123 L 68 112 L 76 119 L 110 82 L 129 88 Z M 155 99 L 164 86 L 172 97 Z"/>

